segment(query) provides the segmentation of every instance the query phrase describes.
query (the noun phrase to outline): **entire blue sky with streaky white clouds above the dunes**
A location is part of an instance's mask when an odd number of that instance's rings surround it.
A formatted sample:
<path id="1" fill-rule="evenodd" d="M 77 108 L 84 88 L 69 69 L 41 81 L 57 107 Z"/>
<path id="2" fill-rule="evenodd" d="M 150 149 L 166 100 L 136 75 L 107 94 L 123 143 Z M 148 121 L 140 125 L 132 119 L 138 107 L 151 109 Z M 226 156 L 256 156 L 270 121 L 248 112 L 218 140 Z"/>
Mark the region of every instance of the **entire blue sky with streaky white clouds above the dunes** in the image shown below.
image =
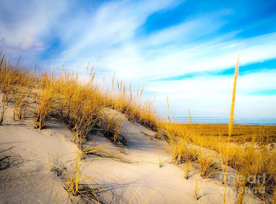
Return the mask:
<path id="1" fill-rule="evenodd" d="M 276 2 L 2 1 L 0 49 L 12 62 L 113 74 L 144 86 L 161 115 L 276 117 Z"/>

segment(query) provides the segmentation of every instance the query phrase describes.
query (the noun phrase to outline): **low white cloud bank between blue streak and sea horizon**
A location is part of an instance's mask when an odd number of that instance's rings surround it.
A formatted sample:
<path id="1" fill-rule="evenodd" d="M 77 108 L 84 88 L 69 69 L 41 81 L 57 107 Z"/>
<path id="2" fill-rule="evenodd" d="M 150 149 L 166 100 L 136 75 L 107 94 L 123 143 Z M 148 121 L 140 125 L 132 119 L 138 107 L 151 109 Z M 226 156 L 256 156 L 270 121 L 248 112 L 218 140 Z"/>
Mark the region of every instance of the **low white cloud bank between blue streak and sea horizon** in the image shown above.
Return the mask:
<path id="1" fill-rule="evenodd" d="M 236 117 L 274 117 L 276 95 L 258 96 L 251 92 L 276 89 L 276 70 L 263 70 L 238 77 L 236 88 Z M 167 114 L 169 98 L 171 112 L 188 116 L 227 117 L 230 111 L 233 76 L 199 77 L 187 80 L 152 82 L 145 92 L 156 93 L 155 104 Z"/>

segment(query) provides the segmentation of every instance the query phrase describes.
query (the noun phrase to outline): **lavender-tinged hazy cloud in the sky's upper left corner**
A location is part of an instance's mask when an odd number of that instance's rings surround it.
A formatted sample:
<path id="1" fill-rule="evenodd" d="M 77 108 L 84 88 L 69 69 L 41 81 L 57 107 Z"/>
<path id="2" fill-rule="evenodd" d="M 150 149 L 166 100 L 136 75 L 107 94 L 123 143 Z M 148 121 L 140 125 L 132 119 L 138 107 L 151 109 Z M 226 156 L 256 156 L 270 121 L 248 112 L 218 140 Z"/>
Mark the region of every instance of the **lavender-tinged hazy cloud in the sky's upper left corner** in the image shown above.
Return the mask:
<path id="1" fill-rule="evenodd" d="M 43 37 L 68 8 L 66 1 L 5 1 L 0 8 L 0 39 L 2 52 L 19 57 L 28 64 L 43 47 Z M 26 52 L 28 51 L 28 52 Z M 27 61 L 29 60 L 29 61 Z"/>

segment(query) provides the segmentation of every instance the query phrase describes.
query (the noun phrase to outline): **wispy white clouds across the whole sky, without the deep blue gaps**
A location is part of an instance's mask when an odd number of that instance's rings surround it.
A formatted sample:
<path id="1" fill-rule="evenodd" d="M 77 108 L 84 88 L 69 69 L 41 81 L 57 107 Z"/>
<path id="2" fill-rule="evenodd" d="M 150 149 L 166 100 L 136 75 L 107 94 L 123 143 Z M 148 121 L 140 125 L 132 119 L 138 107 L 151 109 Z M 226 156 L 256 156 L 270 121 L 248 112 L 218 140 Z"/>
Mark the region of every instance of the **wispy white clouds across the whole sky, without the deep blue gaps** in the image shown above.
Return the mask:
<path id="1" fill-rule="evenodd" d="M 106 2 L 90 11 L 73 2 L 5 3 L 11 16 L 9 23 L 0 19 L 0 45 L 20 56 L 22 49 L 35 60 L 39 51 L 50 47 L 47 37 L 58 37 L 64 50 L 44 63 L 55 68 L 79 70 L 84 74 L 87 62 L 99 72 L 98 79 L 118 78 L 133 87 L 145 86 L 145 97 L 157 93 L 156 105 L 166 112 L 166 95 L 172 110 L 183 115 L 190 107 L 194 116 L 227 116 L 232 92 L 232 77 L 197 77 L 182 81 L 149 82 L 206 70 L 222 70 L 276 57 L 276 33 L 250 38 L 236 38 L 241 30 L 219 34 L 227 23 L 229 10 L 202 13 L 178 25 L 137 36 L 137 29 L 154 12 L 168 9 L 179 1 Z M 56 5 L 57 4 L 57 5 Z M 3 8 L 3 7 L 2 7 Z M 1 10 L 0 10 L 1 11 Z M 72 12 L 72 13 L 71 13 Z M 70 15 L 69 15 L 70 14 Z M 0 14 L 1 17 L 1 14 Z M 53 32 L 53 33 L 52 33 Z M 212 35 L 213 34 L 213 35 Z M 212 37 L 210 37 L 212 36 Z M 5 51 L 5 50 L 4 50 Z M 47 53 L 46 53 L 47 54 Z M 16 56 L 17 57 L 17 56 Z M 50 67 L 50 66 L 48 66 Z M 239 77 L 237 113 L 252 116 L 275 116 L 275 96 L 249 96 L 257 90 L 275 89 L 274 70 Z M 249 102 L 250 101 L 250 104 Z M 260 105 L 262 104 L 262 105 Z M 249 109 L 256 111 L 250 111 Z M 268 108 L 271 108 L 271 111 Z M 244 109 L 244 110 L 242 110 Z"/>

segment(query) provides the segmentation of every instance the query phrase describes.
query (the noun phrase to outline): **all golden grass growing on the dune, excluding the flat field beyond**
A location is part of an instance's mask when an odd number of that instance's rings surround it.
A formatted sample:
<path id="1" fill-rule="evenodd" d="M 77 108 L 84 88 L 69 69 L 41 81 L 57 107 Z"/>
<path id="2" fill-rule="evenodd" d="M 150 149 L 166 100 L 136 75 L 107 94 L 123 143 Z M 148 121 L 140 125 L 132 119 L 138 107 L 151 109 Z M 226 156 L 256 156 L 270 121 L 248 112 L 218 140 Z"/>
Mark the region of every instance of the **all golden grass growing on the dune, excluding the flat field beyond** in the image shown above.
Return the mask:
<path id="1" fill-rule="evenodd" d="M 127 85 L 122 80 L 115 80 L 114 76 L 111 89 L 100 88 L 94 83 L 93 68 L 89 77 L 83 80 L 78 77 L 78 74 L 63 71 L 63 69 L 58 74 L 46 72 L 37 74 L 36 70 L 33 72 L 11 65 L 2 54 L 0 59 L 0 90 L 2 91 L 0 125 L 5 119 L 6 108 L 10 102 L 13 102 L 14 120 L 22 120 L 26 109 L 31 108 L 35 127 L 43 130 L 47 117 L 54 116 L 67 124 L 68 129 L 75 135 L 73 142 L 78 143 L 79 151 L 93 153 L 106 151 L 104 146 L 82 148 L 82 140 L 86 139 L 93 129 L 98 130 L 98 127 L 102 127 L 100 129 L 105 132 L 105 136 L 111 142 L 118 142 L 123 122 L 117 120 L 111 112 L 105 113 L 106 108 L 111 108 L 125 114 L 128 120 L 135 120 L 156 131 L 156 138 L 164 139 L 170 146 L 171 163 L 186 164 L 185 179 L 188 179 L 190 167 L 193 164 L 200 170 L 202 178 L 209 178 L 223 169 L 224 189 L 226 189 L 228 167 L 232 167 L 240 175 L 262 176 L 265 174 L 265 180 L 251 184 L 251 187 L 257 189 L 255 194 L 261 198 L 266 198 L 266 194 L 274 194 L 276 155 L 275 151 L 267 151 L 268 136 L 267 143 L 264 142 L 263 136 L 260 148 L 253 151 L 245 141 L 233 139 L 235 137 L 232 135 L 232 129 L 238 62 L 234 77 L 228 137 L 225 137 L 223 132 L 216 136 L 202 133 L 200 127 L 192 124 L 191 117 L 189 125 L 173 123 L 170 113 L 169 121 L 161 120 L 154 108 L 154 100 L 147 99 L 142 102 L 141 96 L 144 88 L 138 87 L 136 92 L 132 92 L 131 83 Z M 80 159 L 80 156 L 77 158 Z M 217 159 L 222 161 L 221 167 L 216 163 Z M 67 181 L 68 190 L 74 195 L 77 194 L 79 186 L 81 171 L 79 163 L 80 160 L 76 160 L 75 174 Z M 161 167 L 160 157 L 158 163 Z M 249 182 L 245 182 L 244 185 L 248 186 Z M 263 187 L 266 188 L 266 192 L 260 194 L 258 189 Z M 225 202 L 225 193 L 223 193 L 223 198 Z"/>

